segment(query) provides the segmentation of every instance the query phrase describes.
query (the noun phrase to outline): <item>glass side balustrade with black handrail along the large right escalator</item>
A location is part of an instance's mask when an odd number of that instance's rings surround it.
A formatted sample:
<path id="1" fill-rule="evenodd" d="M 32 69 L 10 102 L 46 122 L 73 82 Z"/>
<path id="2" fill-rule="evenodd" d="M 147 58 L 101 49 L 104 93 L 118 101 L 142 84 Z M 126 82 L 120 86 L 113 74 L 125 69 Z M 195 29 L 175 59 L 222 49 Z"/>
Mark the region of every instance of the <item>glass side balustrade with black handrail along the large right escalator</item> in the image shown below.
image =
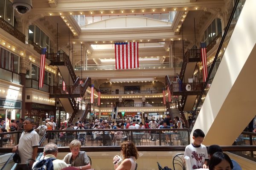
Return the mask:
<path id="1" fill-rule="evenodd" d="M 238 12 L 241 13 L 241 8 L 243 7 L 244 3 L 245 3 L 245 0 L 236 0 L 236 3 L 234 4 L 234 8 L 232 10 L 232 13 L 230 14 L 230 19 L 228 20 L 227 27 L 226 27 L 226 29 L 224 31 L 224 34 L 222 36 L 220 45 L 218 47 L 218 50 L 216 51 L 215 58 L 214 58 L 214 60 L 212 62 L 212 66 L 211 66 L 211 68 L 209 70 L 209 73 L 208 73 L 208 75 L 211 75 L 211 79 L 210 79 L 210 76 L 208 76 L 207 79 L 206 79 L 206 82 L 204 83 L 203 91 L 201 92 L 200 97 L 198 98 L 198 102 L 197 102 L 197 104 L 195 106 L 195 110 L 194 110 L 193 115 L 192 115 L 192 120 L 194 119 L 195 114 L 200 111 L 201 106 L 204 103 L 204 99 L 202 99 L 202 96 L 203 95 L 205 95 L 205 96 L 207 95 L 207 93 L 209 91 L 209 87 L 210 87 L 211 82 L 212 82 L 212 77 L 215 77 L 215 74 L 216 74 L 218 66 L 219 66 L 219 65 L 215 65 L 216 60 L 217 60 L 218 57 L 223 57 L 223 55 L 224 55 L 224 52 L 222 52 L 220 54 L 220 51 L 221 50 L 225 51 L 224 49 L 227 48 L 227 45 L 228 45 L 228 42 L 230 40 L 231 34 L 233 33 L 233 30 L 234 30 L 234 28 L 236 26 L 236 22 L 237 22 L 237 19 L 238 19 L 237 15 L 239 15 Z M 234 17 L 235 13 L 236 13 L 236 17 Z M 232 27 L 230 27 L 231 23 L 233 24 Z M 229 34 L 229 36 L 227 36 L 227 34 Z M 224 43 L 224 42 L 227 42 L 227 43 Z M 212 72 L 213 68 L 216 69 L 215 73 Z M 200 106 L 200 107 L 198 107 L 198 106 Z M 191 123 L 190 123 L 189 127 L 190 126 L 191 126 Z"/>

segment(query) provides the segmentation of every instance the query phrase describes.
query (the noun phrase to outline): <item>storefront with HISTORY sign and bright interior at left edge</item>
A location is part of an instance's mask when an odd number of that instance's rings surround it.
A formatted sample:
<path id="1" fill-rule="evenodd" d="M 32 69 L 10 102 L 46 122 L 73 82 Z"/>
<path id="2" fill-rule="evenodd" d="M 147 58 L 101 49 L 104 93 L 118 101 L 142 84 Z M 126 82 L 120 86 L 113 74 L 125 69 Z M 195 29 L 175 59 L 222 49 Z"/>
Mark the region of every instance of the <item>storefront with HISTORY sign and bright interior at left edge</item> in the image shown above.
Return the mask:
<path id="1" fill-rule="evenodd" d="M 19 119 L 21 113 L 21 101 L 0 98 L 0 120 L 6 121 L 6 129 L 9 129 L 11 119 Z"/>

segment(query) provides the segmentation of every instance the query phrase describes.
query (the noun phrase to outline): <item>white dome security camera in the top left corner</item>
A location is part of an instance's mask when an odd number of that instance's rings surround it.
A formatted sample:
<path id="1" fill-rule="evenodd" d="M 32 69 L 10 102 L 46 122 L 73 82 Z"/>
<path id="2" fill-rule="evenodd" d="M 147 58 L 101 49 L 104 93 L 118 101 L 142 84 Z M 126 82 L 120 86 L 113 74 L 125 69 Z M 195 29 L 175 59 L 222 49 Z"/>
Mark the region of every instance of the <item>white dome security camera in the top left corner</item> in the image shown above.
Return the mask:
<path id="1" fill-rule="evenodd" d="M 32 9 L 32 0 L 13 0 L 13 8 L 20 14 L 25 14 Z"/>

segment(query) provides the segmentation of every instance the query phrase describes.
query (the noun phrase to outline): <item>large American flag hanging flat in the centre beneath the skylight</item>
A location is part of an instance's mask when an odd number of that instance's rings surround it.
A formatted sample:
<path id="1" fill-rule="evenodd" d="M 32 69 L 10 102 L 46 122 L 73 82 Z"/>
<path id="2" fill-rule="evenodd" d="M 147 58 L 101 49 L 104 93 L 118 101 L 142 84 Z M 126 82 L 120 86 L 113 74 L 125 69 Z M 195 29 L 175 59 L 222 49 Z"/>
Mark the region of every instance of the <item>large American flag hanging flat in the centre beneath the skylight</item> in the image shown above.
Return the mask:
<path id="1" fill-rule="evenodd" d="M 115 43 L 116 69 L 139 68 L 139 43 Z"/>

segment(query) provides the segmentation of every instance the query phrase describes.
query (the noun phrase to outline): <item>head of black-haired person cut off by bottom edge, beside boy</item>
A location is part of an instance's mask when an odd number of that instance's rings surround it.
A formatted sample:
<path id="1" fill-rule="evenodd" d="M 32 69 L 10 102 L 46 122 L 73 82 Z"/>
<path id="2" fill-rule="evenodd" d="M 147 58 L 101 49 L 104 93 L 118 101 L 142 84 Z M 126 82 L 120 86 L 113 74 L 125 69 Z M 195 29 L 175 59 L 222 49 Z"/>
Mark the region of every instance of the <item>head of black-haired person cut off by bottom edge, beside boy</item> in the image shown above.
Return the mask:
<path id="1" fill-rule="evenodd" d="M 226 153 L 216 152 L 209 161 L 209 170 L 232 170 L 233 164 Z"/>

